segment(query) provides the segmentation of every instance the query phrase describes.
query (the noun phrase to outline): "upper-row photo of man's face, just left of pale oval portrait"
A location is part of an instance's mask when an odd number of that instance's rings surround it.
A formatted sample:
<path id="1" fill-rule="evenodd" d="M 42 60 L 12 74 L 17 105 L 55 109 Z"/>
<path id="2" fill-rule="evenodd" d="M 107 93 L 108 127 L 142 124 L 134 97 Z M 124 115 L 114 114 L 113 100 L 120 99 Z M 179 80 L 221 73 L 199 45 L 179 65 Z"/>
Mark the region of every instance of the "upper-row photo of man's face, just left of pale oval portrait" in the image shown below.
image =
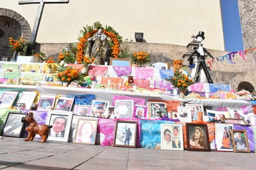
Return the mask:
<path id="1" fill-rule="evenodd" d="M 109 101 L 93 100 L 91 102 L 91 117 L 104 117 L 109 112 Z"/>

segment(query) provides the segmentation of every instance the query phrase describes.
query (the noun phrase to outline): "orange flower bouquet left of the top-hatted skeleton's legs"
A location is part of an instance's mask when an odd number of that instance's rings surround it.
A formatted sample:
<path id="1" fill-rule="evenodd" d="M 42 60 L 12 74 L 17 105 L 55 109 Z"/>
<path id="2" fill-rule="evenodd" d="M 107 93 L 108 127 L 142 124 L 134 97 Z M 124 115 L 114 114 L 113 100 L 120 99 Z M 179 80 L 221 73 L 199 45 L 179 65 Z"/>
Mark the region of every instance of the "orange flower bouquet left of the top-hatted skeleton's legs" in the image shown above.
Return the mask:
<path id="1" fill-rule="evenodd" d="M 173 61 L 174 75 L 170 76 L 170 79 L 167 79 L 167 81 L 169 81 L 173 86 L 177 87 L 180 92 L 185 94 L 188 86 L 194 84 L 194 81 L 193 79 L 190 79 L 187 74 L 180 70 L 182 65 L 183 61 L 181 60 Z"/>

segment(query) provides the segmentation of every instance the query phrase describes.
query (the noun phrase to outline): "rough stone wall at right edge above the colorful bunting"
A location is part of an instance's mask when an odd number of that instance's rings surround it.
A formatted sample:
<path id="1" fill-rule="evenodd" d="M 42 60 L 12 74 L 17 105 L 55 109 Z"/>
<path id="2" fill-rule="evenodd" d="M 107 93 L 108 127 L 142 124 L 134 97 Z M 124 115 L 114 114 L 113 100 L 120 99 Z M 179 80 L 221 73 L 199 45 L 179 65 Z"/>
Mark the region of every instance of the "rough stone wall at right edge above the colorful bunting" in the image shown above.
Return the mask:
<path id="1" fill-rule="evenodd" d="M 244 49 L 256 47 L 256 1 L 238 0 Z"/>

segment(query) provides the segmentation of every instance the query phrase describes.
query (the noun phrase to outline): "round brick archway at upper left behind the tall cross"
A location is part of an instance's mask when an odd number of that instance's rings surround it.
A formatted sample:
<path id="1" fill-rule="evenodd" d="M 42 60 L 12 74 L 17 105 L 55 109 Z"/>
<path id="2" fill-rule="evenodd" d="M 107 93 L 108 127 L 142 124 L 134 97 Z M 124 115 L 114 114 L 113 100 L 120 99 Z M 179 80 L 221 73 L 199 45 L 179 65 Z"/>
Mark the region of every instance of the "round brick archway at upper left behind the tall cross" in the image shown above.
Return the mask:
<path id="1" fill-rule="evenodd" d="M 20 14 L 11 9 L 0 8 L 0 30 L 3 34 L 0 37 L 0 56 L 11 56 L 9 51 L 9 37 L 17 39 L 24 37 L 26 42 L 30 41 L 31 29 L 29 22 Z"/>

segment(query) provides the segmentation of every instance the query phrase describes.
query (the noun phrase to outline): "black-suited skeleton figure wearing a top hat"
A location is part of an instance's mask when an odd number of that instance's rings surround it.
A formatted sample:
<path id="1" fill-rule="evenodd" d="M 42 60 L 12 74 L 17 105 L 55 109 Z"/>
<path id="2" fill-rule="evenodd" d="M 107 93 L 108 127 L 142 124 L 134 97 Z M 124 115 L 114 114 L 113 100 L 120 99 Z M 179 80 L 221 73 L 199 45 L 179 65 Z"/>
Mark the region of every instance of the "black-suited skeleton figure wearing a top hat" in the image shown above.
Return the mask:
<path id="1" fill-rule="evenodd" d="M 205 62 L 205 55 L 204 53 L 208 54 L 211 58 L 214 59 L 213 55 L 211 55 L 211 53 L 209 53 L 208 50 L 206 50 L 201 42 L 203 42 L 204 40 L 204 32 L 203 31 L 199 31 L 198 35 L 196 35 L 196 41 L 199 42 L 198 47 L 194 48 L 194 52 L 188 57 L 188 60 L 190 60 L 191 57 L 193 57 L 193 55 L 196 54 L 196 56 L 198 57 L 198 63 L 196 65 L 196 71 L 195 71 L 195 76 L 194 76 L 194 82 L 198 82 L 199 80 L 199 73 L 201 71 L 201 69 L 203 69 L 204 73 L 206 74 L 206 78 L 208 80 L 208 83 L 213 83 L 213 80 L 211 79 L 211 76 L 209 74 L 208 68 L 206 66 L 206 62 Z"/>

